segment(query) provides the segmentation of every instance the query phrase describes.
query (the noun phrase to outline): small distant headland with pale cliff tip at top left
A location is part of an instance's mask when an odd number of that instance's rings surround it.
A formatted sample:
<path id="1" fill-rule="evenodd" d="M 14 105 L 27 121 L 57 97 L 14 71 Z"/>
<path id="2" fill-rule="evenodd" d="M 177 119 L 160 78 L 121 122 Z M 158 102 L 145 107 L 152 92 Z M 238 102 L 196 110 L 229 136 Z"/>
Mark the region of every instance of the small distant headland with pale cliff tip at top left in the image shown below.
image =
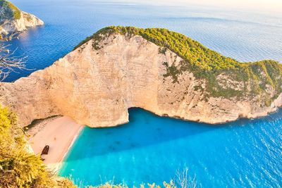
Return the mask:
<path id="1" fill-rule="evenodd" d="M 0 0 L 0 34 L 21 32 L 27 27 L 44 25 L 43 21 L 35 15 L 20 11 L 16 6 L 6 0 Z"/>

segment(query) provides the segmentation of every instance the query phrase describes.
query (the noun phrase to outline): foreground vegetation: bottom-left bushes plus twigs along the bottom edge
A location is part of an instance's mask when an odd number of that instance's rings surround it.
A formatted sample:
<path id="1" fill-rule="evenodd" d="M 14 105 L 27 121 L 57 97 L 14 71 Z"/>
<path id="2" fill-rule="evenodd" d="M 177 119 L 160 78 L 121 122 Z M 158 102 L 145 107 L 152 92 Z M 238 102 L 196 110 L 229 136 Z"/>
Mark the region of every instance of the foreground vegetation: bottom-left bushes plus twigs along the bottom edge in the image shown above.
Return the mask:
<path id="1" fill-rule="evenodd" d="M 17 117 L 8 108 L 0 106 L 0 187 L 44 187 L 70 188 L 88 187 L 83 182 L 73 185 L 73 180 L 57 177 L 46 169 L 39 156 L 28 151 L 25 141 L 25 132 L 17 125 Z M 99 188 L 128 188 L 126 184 L 106 182 L 98 185 Z M 140 188 L 160 188 L 152 184 L 141 184 Z M 188 168 L 176 171 L 176 182 L 163 183 L 164 188 L 197 187 L 195 178 L 188 176 Z"/>

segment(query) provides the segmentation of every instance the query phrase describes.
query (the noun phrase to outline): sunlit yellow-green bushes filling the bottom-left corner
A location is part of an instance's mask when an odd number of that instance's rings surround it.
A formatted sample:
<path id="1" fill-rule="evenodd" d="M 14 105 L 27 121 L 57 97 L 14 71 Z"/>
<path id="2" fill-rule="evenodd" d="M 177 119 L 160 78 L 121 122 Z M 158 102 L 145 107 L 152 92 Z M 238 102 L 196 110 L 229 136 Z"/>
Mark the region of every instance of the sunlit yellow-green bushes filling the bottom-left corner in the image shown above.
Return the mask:
<path id="1" fill-rule="evenodd" d="M 47 171 L 41 158 L 27 149 L 16 115 L 0 106 L 0 187 L 74 187 Z"/>

